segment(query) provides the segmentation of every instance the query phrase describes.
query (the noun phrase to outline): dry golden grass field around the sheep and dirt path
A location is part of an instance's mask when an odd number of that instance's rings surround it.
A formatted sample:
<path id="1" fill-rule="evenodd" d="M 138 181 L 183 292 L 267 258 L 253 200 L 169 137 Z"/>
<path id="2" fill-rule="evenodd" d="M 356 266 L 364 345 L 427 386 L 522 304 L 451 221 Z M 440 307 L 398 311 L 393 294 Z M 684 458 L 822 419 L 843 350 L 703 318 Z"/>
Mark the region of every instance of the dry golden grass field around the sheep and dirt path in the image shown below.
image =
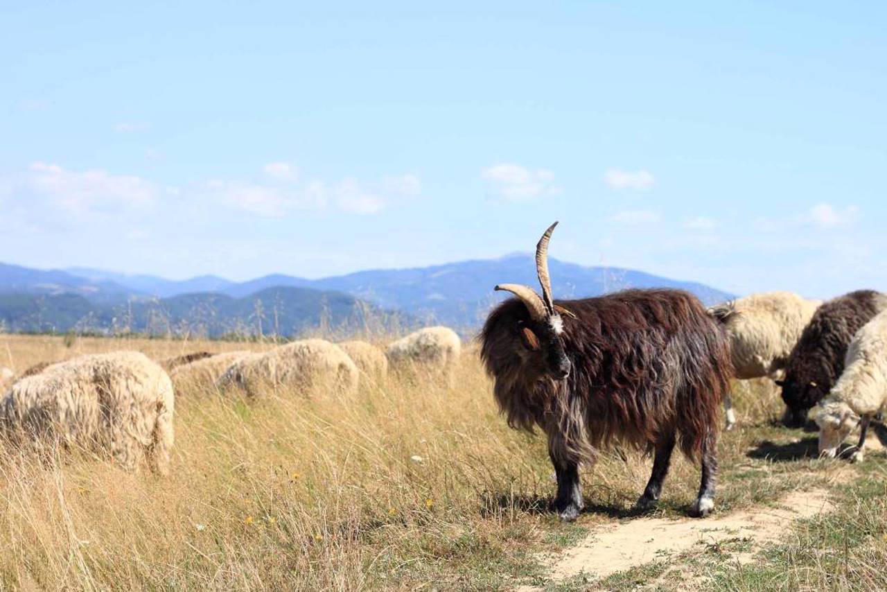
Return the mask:
<path id="1" fill-rule="evenodd" d="M 0 335 L 0 365 L 263 347 Z M 348 396 L 274 391 L 255 403 L 184 390 L 169 478 L 4 449 L 0 588 L 887 588 L 887 457 L 816 459 L 814 433 L 773 423 L 780 401 L 762 383 L 736 386 L 715 515 L 812 487 L 835 511 L 787 524 L 744 564 L 734 553 L 748 541 L 738 540 L 606 580 L 552 580 L 546 555 L 634 517 L 649 459 L 604 454 L 583 477 L 585 514 L 561 525 L 546 511 L 543 438 L 506 428 L 473 347 L 453 384 L 367 381 Z M 655 515 L 688 519 L 697 486 L 698 470 L 676 457 Z"/>

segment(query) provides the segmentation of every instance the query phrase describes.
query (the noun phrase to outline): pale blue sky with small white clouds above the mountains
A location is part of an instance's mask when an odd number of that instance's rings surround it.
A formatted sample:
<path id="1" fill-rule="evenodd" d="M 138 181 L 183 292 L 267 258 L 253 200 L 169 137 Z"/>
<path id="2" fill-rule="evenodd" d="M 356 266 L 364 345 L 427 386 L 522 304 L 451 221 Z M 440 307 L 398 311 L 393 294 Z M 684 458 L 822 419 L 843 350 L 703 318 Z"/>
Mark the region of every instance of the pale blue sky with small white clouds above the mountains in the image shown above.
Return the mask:
<path id="1" fill-rule="evenodd" d="M 887 289 L 887 4 L 11 4 L 5 262 Z"/>

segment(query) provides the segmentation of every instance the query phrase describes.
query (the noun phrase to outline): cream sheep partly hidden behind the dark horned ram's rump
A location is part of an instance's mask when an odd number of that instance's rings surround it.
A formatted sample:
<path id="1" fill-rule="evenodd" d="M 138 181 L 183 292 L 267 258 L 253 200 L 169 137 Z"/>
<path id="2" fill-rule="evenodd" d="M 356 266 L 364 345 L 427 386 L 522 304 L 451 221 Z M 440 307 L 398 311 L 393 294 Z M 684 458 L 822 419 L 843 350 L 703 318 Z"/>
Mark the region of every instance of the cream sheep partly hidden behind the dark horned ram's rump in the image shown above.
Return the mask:
<path id="1" fill-rule="evenodd" d="M 765 292 L 711 307 L 711 314 L 726 327 L 734 376 L 776 378 L 820 304 L 793 292 Z M 736 417 L 729 393 L 724 408 L 730 430 Z"/>

